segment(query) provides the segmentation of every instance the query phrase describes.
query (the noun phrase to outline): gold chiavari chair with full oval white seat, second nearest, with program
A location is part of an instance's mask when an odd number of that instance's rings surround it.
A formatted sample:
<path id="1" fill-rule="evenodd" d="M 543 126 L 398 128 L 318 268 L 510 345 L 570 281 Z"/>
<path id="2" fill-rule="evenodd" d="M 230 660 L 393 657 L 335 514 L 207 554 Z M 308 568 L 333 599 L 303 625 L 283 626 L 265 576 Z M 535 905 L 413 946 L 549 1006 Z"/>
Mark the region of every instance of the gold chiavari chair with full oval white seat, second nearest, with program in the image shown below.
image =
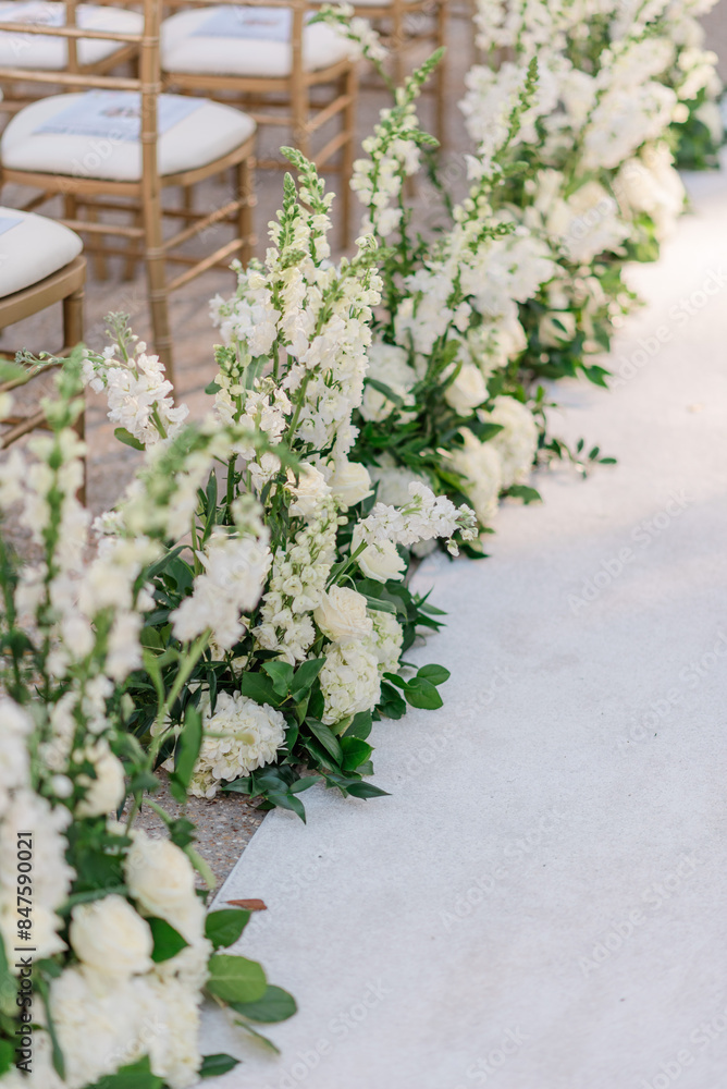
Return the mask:
<path id="1" fill-rule="evenodd" d="M 104 254 L 144 260 L 155 347 L 173 378 L 170 293 L 209 268 L 227 267 L 233 256 L 250 254 L 256 124 L 230 106 L 161 94 L 159 0 L 144 0 L 141 34 L 82 29 L 74 23 L 74 4 L 66 8 L 65 25 L 46 33 L 134 44 L 139 75 L 23 70 L 24 79 L 73 91 L 32 102 L 12 119 L 0 139 L 0 180 L 41 191 L 26 208 L 63 195 L 67 227 L 88 233 Z M 17 69 L 0 68 L 0 82 L 17 77 Z M 187 191 L 227 168 L 234 169 L 236 192 L 223 206 L 195 212 L 188 203 L 162 205 L 163 189 Z M 88 219 L 81 218 L 84 209 Z M 133 222 L 119 222 L 120 212 L 131 212 Z M 164 223 L 180 219 L 182 228 L 165 236 Z M 232 225 L 232 241 L 205 257 L 186 249 L 190 240 L 202 242 L 202 232 L 222 223 Z M 114 236 L 125 245 L 107 241 Z M 184 266 L 173 279 L 171 264 Z"/>

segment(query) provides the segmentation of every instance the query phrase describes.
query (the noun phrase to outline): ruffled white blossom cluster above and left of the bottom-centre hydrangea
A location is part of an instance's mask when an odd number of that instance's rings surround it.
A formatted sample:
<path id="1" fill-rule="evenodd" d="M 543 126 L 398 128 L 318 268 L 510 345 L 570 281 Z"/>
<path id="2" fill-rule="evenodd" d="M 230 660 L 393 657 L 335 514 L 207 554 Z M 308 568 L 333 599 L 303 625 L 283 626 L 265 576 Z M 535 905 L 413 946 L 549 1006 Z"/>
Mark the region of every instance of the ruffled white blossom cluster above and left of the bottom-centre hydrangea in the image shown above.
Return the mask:
<path id="1" fill-rule="evenodd" d="M 197 558 L 204 566 L 190 597 L 170 614 L 181 643 L 209 631 L 222 650 L 239 643 L 266 585 L 272 555 L 268 534 L 247 537 L 215 530 Z"/>

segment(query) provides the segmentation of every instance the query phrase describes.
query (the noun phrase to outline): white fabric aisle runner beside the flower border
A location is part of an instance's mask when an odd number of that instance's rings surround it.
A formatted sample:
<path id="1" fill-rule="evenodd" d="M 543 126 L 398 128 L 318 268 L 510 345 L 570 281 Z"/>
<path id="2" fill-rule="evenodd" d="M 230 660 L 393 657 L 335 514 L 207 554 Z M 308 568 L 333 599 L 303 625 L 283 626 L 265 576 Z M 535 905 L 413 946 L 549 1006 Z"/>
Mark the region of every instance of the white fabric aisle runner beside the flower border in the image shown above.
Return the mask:
<path id="1" fill-rule="evenodd" d="M 695 184 L 632 277 L 626 380 L 560 390 L 618 465 L 424 565 L 448 626 L 414 657 L 452 680 L 375 727 L 392 796 L 307 793 L 229 879 L 300 1012 L 278 1060 L 212 1017 L 246 1055 L 220 1089 L 727 1084 L 727 183 Z"/>

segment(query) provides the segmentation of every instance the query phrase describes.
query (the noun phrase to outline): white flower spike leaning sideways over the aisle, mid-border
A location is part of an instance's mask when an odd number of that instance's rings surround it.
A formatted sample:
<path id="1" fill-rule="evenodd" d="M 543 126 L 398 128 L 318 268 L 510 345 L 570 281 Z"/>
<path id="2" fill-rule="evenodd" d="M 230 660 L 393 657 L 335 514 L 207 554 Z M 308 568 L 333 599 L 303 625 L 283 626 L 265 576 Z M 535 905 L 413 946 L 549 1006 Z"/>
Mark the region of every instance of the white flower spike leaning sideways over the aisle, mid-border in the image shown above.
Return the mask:
<path id="1" fill-rule="evenodd" d="M 459 533 L 463 540 L 473 540 L 477 519 L 468 506 L 455 506 L 446 495 L 435 495 L 422 484 L 409 485 L 409 501 L 403 507 L 377 503 L 367 518 L 359 523 L 360 540 L 366 544 L 404 544 L 409 548 L 418 541 L 442 537 L 453 555 L 454 542 Z"/>

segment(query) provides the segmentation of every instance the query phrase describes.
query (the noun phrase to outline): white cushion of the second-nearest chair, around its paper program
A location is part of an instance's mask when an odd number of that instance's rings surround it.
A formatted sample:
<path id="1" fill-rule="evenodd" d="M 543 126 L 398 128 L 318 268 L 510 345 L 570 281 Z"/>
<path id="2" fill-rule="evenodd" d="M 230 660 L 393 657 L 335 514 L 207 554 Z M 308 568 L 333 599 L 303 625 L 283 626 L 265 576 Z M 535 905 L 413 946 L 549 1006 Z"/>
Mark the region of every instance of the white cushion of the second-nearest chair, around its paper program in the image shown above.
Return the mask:
<path id="1" fill-rule="evenodd" d="M 88 97 L 99 91 L 87 93 Z M 121 93 L 126 94 L 126 93 Z M 127 93 L 138 102 L 138 95 Z M 37 130 L 84 98 L 84 95 L 53 95 L 26 106 L 15 114 L 0 138 L 0 161 L 9 170 L 37 171 L 44 174 L 70 174 L 114 182 L 137 182 L 141 178 L 141 145 L 138 139 L 120 139 L 119 123 L 108 119 L 108 135 L 89 136 L 42 133 Z M 183 96 L 162 96 L 182 99 Z M 196 170 L 239 147 L 255 132 L 251 118 L 232 106 L 199 102 L 158 140 L 158 168 L 161 175 Z M 115 127 L 114 127 L 115 125 Z"/>

